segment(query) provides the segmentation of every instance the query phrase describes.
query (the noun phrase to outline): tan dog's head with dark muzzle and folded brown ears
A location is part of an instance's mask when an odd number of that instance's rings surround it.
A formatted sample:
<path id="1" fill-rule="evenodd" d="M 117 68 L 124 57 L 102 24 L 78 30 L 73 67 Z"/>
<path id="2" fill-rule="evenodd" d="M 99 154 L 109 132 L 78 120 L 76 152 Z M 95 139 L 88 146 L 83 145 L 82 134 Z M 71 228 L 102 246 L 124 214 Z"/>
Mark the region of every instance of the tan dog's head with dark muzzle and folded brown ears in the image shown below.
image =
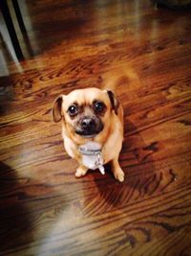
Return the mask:
<path id="1" fill-rule="evenodd" d="M 53 120 L 63 120 L 65 132 L 77 143 L 81 138 L 105 136 L 118 101 L 112 91 L 87 88 L 60 95 L 53 105 Z"/>

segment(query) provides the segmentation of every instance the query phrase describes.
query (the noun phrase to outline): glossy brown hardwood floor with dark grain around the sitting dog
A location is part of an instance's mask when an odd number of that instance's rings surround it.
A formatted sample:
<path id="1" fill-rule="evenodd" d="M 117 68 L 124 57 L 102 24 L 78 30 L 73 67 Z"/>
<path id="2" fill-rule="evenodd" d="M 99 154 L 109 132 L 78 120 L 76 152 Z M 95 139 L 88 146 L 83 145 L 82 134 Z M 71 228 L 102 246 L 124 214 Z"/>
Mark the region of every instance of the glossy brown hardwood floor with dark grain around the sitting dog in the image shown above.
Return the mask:
<path id="1" fill-rule="evenodd" d="M 129 2 L 19 2 L 26 59 L 1 39 L 0 255 L 191 255 L 190 12 Z M 122 184 L 109 167 L 76 179 L 52 118 L 60 93 L 108 79 Z"/>

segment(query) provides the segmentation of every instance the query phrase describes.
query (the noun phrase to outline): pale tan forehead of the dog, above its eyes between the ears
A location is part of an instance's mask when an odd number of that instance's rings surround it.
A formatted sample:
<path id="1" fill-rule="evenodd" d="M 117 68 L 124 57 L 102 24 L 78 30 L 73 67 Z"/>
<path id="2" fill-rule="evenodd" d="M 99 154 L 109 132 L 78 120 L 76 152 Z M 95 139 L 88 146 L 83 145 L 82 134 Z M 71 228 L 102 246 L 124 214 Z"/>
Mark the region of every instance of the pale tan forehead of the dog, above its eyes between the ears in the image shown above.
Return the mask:
<path id="1" fill-rule="evenodd" d="M 92 105 L 94 101 L 101 101 L 109 105 L 109 97 L 106 91 L 97 88 L 74 90 L 64 98 L 64 105 L 67 107 L 74 103 L 78 105 Z"/>

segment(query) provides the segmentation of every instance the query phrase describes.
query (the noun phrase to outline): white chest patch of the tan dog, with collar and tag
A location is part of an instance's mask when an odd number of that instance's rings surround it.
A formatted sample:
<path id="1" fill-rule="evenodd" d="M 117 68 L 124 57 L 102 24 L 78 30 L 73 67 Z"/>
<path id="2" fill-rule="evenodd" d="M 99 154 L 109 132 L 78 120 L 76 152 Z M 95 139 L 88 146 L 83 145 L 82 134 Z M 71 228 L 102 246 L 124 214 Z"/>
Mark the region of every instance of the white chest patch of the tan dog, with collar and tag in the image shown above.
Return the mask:
<path id="1" fill-rule="evenodd" d="M 103 167 L 103 156 L 101 152 L 101 147 L 96 142 L 88 142 L 84 145 L 81 145 L 78 148 L 78 151 L 82 156 L 82 163 L 85 167 L 91 170 L 99 169 L 102 175 L 105 174 Z"/>

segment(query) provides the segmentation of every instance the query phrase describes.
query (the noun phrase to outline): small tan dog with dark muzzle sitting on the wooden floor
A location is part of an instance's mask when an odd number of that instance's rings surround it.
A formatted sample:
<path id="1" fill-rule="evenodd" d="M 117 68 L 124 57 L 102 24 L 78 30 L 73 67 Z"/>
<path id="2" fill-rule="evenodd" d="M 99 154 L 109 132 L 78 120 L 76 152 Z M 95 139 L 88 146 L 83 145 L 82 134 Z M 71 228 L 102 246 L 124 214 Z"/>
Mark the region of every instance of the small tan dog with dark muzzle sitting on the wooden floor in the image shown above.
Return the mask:
<path id="1" fill-rule="evenodd" d="M 76 159 L 75 176 L 86 175 L 111 162 L 120 182 L 124 173 L 118 164 L 123 141 L 123 110 L 112 91 L 87 88 L 60 95 L 53 105 L 54 122 L 62 122 L 65 150 Z"/>

